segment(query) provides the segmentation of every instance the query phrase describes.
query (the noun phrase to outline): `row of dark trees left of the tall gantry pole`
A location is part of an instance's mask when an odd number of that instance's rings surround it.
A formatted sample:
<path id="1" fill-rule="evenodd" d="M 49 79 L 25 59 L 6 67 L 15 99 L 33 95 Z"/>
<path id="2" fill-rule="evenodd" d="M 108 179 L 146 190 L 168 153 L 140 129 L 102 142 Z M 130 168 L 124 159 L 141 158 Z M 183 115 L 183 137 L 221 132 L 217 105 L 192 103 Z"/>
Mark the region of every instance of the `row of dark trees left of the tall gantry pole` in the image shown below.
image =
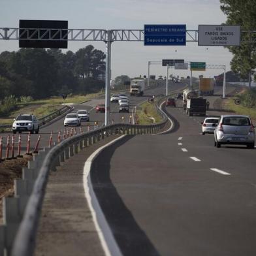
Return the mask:
<path id="1" fill-rule="evenodd" d="M 58 49 L 22 48 L 0 54 L 0 100 L 89 93 L 104 87 L 105 54 L 86 46 L 65 54 Z"/>

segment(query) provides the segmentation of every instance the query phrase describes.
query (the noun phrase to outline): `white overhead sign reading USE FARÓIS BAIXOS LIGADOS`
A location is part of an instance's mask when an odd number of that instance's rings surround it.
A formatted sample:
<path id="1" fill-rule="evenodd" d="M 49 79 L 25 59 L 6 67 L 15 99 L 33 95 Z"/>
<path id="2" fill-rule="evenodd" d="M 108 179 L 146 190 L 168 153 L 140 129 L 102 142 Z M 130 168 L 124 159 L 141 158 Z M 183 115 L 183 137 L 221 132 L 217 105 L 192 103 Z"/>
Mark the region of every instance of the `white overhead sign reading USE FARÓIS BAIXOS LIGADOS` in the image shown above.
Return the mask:
<path id="1" fill-rule="evenodd" d="M 199 25 L 199 46 L 240 46 L 240 26 Z"/>

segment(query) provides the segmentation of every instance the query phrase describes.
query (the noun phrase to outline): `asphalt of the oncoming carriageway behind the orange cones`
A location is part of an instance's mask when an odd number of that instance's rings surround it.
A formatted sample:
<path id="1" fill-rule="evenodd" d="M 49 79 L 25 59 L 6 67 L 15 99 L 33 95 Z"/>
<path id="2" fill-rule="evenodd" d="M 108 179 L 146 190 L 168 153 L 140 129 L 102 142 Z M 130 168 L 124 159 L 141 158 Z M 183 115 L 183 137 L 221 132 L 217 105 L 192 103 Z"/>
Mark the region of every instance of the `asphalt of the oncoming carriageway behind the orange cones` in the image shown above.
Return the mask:
<path id="1" fill-rule="evenodd" d="M 179 88 L 184 88 L 185 84 L 179 83 L 174 84 L 171 83 L 169 86 L 170 91 L 174 91 Z M 122 122 L 122 116 L 124 117 L 124 122 L 129 123 L 129 116 L 133 115 L 135 112 L 135 106 L 142 103 L 143 101 L 148 101 L 149 97 L 152 97 L 152 95 L 159 95 L 165 93 L 165 86 L 159 86 L 155 88 L 146 89 L 144 97 L 130 97 L 130 112 L 129 113 L 119 113 L 119 105 L 118 103 L 110 103 L 110 120 L 114 121 L 114 123 L 121 123 Z M 128 93 L 127 93 L 128 94 Z M 86 132 L 88 131 L 88 125 L 89 129 L 94 129 L 95 121 L 99 124 L 99 126 L 103 125 L 104 123 L 104 113 L 96 113 L 95 107 L 99 103 L 104 103 L 104 98 L 101 97 L 99 99 L 92 99 L 91 101 L 88 101 L 83 104 L 73 104 L 74 110 L 72 112 L 76 112 L 77 110 L 88 110 L 89 111 L 89 122 L 82 122 L 82 131 Z M 40 143 L 39 143 L 39 150 L 47 147 L 50 140 L 50 133 L 53 132 L 53 139 L 52 144 L 57 143 L 57 135 L 59 131 L 61 131 L 61 136 L 63 136 L 63 125 L 64 118 L 61 118 L 57 121 L 54 121 L 50 125 L 47 125 L 45 127 L 40 128 L 39 134 L 41 135 Z M 71 129 L 71 127 L 66 127 Z M 80 127 L 73 127 L 76 129 L 76 133 L 80 133 Z M 69 132 L 70 133 L 70 132 Z M 73 131 L 74 134 L 74 131 Z M 3 157 L 5 157 L 5 146 L 7 142 L 7 136 L 12 136 L 12 133 L 0 133 L 0 136 L 3 137 Z M 21 134 L 22 139 L 22 153 L 25 153 L 27 150 L 27 135 L 28 133 L 22 133 Z M 39 135 L 31 135 L 31 149 L 30 152 L 34 150 L 35 145 L 37 143 L 37 138 Z M 10 138 L 11 140 L 11 138 Z M 18 146 L 18 134 L 15 135 L 15 145 Z M 15 148 L 15 152 L 17 153 L 17 149 Z M 15 154 L 16 154 L 15 153 Z"/>

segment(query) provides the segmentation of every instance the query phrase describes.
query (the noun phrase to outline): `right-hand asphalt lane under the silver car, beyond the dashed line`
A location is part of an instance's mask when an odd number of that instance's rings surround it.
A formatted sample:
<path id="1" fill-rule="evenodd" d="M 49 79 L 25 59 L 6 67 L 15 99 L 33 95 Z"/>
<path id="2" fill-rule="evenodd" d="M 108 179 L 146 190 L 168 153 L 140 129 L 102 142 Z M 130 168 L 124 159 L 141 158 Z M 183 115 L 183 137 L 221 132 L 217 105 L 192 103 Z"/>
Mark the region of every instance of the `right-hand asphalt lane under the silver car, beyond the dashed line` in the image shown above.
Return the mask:
<path id="1" fill-rule="evenodd" d="M 182 144 L 189 155 L 209 163 L 209 168 L 217 168 L 232 175 L 244 178 L 251 184 L 256 183 L 255 174 L 255 150 L 247 149 L 246 146 L 223 145 L 221 148 L 214 147 L 214 135 L 201 135 L 202 117 L 189 117 L 181 111 L 181 108 L 168 108 L 168 114 L 176 120 L 179 126 L 176 135 L 181 139 L 177 142 Z M 219 112 L 219 114 L 223 114 Z M 178 120 L 178 121 L 177 121 Z"/>

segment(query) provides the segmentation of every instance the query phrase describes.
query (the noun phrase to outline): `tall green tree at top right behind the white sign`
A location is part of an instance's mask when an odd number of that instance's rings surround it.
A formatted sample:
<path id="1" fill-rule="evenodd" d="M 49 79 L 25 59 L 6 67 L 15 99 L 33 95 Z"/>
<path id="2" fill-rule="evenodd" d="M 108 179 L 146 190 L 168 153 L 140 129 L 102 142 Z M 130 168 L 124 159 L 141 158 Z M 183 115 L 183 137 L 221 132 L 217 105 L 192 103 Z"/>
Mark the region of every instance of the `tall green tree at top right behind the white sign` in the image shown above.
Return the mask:
<path id="1" fill-rule="evenodd" d="M 255 0 L 220 0 L 221 10 L 227 15 L 227 25 L 240 25 L 242 30 L 255 30 L 256 27 L 256 1 Z M 232 71 L 239 73 L 242 78 L 248 77 L 251 88 L 251 74 L 256 68 L 256 44 L 248 42 L 249 33 L 241 33 L 241 44 L 229 46 L 233 58 Z M 247 41 L 247 42 L 246 42 Z"/>

